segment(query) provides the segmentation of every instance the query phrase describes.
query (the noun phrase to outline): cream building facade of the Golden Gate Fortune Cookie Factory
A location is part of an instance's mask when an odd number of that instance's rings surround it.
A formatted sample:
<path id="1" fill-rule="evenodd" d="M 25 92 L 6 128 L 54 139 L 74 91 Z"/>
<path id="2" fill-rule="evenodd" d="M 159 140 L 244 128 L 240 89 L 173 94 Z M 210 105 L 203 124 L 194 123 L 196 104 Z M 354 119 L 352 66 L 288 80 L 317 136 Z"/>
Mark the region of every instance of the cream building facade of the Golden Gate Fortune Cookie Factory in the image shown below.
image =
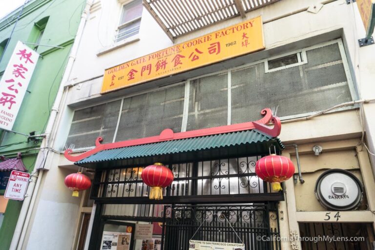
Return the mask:
<path id="1" fill-rule="evenodd" d="M 357 3 L 229 2 L 87 1 L 22 249 L 373 249 L 375 46 L 359 47 Z M 270 153 L 296 167 L 281 192 L 255 174 Z M 155 162 L 175 178 L 159 201 L 141 179 Z"/>

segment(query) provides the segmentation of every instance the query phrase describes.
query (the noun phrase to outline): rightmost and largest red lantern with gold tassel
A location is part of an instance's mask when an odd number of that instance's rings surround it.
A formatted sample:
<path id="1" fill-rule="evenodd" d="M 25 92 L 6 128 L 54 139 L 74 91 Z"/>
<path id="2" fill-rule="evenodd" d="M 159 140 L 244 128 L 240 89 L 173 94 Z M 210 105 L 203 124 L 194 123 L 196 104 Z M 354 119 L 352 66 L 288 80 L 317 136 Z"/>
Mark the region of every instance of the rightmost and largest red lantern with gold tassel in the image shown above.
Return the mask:
<path id="1" fill-rule="evenodd" d="M 255 173 L 266 182 L 271 182 L 272 189 L 282 190 L 280 182 L 286 181 L 294 174 L 291 159 L 271 154 L 259 159 L 255 164 Z"/>

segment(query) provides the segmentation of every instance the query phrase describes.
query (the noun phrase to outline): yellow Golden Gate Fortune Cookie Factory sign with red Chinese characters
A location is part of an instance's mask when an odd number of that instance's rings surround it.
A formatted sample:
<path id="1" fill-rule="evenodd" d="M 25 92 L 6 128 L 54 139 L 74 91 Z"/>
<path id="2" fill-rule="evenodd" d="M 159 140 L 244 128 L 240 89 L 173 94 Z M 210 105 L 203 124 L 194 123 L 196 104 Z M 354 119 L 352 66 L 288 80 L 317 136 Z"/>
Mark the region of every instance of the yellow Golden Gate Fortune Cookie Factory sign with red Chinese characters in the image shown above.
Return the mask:
<path id="1" fill-rule="evenodd" d="M 261 17 L 106 69 L 101 93 L 264 49 Z"/>

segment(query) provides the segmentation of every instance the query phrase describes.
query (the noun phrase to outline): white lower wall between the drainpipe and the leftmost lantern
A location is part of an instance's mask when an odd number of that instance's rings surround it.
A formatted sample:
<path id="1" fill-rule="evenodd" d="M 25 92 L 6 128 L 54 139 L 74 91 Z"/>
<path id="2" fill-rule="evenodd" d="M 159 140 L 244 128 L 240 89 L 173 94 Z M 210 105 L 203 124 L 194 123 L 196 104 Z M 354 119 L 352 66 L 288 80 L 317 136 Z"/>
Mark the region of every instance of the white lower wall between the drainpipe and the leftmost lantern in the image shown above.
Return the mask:
<path id="1" fill-rule="evenodd" d="M 57 162 L 58 155 L 55 155 Z M 72 197 L 65 187 L 64 178 L 73 172 L 63 167 L 52 167 L 42 178 L 30 227 L 22 249 L 67 250 L 75 236 L 76 220 L 79 218 L 80 197 Z"/>

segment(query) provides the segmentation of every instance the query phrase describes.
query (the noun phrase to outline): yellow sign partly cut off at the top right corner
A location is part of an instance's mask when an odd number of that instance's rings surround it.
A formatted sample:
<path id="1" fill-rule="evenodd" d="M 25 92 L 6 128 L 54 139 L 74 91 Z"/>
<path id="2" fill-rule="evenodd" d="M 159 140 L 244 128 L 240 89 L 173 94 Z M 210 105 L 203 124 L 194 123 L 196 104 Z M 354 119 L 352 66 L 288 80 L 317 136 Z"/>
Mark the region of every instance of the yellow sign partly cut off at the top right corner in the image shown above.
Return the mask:
<path id="1" fill-rule="evenodd" d="M 366 30 L 366 38 L 369 39 L 375 26 L 375 0 L 357 0 L 359 13 Z"/>

